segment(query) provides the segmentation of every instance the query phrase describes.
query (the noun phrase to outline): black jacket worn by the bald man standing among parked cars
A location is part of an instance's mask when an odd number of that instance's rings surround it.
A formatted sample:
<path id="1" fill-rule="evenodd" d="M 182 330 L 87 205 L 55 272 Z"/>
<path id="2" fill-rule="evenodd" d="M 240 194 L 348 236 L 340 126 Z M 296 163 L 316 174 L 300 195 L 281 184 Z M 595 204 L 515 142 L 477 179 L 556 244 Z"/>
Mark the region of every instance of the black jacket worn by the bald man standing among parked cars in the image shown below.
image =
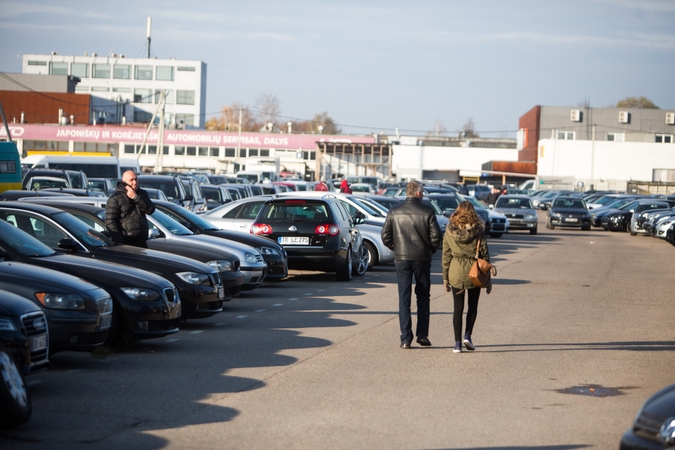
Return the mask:
<path id="1" fill-rule="evenodd" d="M 155 212 L 155 204 L 143 189 L 136 191 L 135 200 L 127 196 L 127 190 L 120 182 L 105 205 L 105 226 L 110 237 L 122 243 L 124 238 L 132 240 L 148 239 L 148 219 L 146 214 Z"/>

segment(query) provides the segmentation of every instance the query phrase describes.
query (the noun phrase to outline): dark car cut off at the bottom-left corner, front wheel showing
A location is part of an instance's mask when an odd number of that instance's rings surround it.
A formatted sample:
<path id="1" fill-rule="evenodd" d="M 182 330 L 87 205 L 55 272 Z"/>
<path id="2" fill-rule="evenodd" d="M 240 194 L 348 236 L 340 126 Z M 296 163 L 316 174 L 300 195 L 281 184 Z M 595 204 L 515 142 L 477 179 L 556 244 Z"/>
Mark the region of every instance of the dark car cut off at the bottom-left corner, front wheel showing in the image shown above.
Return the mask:
<path id="1" fill-rule="evenodd" d="M 23 377 L 49 365 L 47 320 L 30 300 L 0 290 L 0 428 L 30 419 Z"/>

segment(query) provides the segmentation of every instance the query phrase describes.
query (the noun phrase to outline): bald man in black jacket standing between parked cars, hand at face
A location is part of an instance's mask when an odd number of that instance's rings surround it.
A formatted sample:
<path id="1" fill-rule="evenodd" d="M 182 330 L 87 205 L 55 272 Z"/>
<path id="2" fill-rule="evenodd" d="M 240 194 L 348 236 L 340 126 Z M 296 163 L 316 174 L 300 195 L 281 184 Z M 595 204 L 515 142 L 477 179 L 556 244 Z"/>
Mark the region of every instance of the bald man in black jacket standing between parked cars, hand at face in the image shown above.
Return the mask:
<path id="1" fill-rule="evenodd" d="M 155 205 L 148 193 L 138 187 L 136 173 L 127 170 L 105 205 L 105 226 L 115 242 L 148 248 L 145 215 L 153 212 Z"/>

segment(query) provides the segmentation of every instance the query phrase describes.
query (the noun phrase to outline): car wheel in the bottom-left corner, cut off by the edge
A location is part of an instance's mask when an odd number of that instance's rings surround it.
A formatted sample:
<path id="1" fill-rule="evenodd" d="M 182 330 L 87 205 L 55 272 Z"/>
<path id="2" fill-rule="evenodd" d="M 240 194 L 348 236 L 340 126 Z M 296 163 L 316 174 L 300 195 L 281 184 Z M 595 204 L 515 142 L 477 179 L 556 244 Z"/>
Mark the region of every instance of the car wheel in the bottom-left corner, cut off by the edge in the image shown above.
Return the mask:
<path id="1" fill-rule="evenodd" d="M 27 422 L 32 411 L 21 372 L 7 347 L 0 344 L 0 424 L 8 428 Z"/>

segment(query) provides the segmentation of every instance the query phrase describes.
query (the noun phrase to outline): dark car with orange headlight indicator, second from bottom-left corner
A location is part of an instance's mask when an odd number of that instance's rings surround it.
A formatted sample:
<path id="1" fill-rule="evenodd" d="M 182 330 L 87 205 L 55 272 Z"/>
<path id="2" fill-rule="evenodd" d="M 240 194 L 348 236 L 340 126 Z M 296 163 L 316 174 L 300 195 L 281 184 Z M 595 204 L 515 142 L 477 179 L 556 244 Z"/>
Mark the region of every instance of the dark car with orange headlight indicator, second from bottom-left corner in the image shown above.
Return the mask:
<path id="1" fill-rule="evenodd" d="M 91 351 L 105 342 L 113 300 L 101 288 L 105 286 L 92 283 L 113 277 L 115 267 L 98 261 L 87 265 L 78 258 L 58 255 L 4 220 L 0 220 L 0 261 L 0 288 L 30 298 L 45 313 L 50 353 Z"/>

